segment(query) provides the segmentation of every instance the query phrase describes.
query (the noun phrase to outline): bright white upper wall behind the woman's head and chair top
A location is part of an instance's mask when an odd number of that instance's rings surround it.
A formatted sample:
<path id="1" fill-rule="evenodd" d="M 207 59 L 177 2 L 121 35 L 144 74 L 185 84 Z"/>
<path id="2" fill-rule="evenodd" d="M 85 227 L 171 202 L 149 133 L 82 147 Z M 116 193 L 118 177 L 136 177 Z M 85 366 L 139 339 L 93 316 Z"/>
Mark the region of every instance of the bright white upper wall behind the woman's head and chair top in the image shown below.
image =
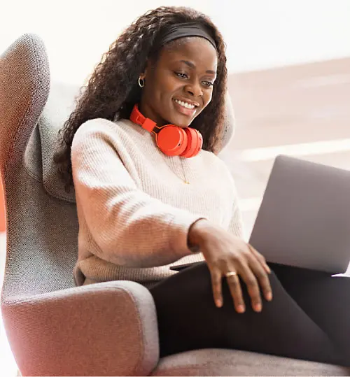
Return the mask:
<path id="1" fill-rule="evenodd" d="M 209 14 L 228 44 L 229 71 L 350 56 L 350 0 L 0 0 L 0 52 L 20 34 L 43 38 L 52 77 L 82 83 L 120 31 L 160 5 Z"/>

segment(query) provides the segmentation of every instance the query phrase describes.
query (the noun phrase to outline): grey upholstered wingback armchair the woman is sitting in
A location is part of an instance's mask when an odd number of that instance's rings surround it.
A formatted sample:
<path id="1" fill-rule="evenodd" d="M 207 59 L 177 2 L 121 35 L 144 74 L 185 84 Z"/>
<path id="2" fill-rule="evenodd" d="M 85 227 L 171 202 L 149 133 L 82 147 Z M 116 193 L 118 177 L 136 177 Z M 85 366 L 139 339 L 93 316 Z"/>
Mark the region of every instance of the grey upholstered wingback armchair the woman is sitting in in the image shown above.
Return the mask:
<path id="1" fill-rule="evenodd" d="M 342 367 L 238 350 L 193 350 L 160 360 L 155 305 L 145 287 L 130 281 L 74 285 L 75 196 L 64 192 L 52 155 L 76 94 L 77 88 L 50 82 L 38 36 L 21 36 L 0 58 L 7 225 L 1 311 L 22 375 L 349 375 Z M 225 138 L 231 134 L 228 127 Z"/>

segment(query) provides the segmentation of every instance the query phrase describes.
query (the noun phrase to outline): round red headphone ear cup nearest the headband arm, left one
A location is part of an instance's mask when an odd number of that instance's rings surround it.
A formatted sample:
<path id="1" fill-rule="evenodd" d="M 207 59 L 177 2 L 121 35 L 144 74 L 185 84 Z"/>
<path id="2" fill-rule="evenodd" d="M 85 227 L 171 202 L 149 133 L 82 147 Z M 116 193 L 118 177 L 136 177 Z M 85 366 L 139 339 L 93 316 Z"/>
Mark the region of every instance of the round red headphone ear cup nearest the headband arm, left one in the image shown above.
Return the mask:
<path id="1" fill-rule="evenodd" d="M 155 141 L 165 155 L 179 156 L 188 145 L 188 134 L 181 127 L 168 125 L 156 134 Z"/>

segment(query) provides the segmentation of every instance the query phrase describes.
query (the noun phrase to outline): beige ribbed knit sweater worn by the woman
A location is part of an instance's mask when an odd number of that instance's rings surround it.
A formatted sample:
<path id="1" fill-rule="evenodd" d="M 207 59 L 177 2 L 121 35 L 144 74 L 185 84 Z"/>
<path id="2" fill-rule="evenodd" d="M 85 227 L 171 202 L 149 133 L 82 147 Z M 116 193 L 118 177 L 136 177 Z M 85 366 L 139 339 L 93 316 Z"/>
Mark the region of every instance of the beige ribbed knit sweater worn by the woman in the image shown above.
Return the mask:
<path id="1" fill-rule="evenodd" d="M 79 221 L 76 285 L 85 278 L 147 285 L 176 273 L 169 266 L 203 260 L 187 244 L 188 229 L 200 218 L 242 236 L 234 180 L 211 152 L 167 157 L 130 120 L 94 119 L 76 132 L 71 162 Z"/>

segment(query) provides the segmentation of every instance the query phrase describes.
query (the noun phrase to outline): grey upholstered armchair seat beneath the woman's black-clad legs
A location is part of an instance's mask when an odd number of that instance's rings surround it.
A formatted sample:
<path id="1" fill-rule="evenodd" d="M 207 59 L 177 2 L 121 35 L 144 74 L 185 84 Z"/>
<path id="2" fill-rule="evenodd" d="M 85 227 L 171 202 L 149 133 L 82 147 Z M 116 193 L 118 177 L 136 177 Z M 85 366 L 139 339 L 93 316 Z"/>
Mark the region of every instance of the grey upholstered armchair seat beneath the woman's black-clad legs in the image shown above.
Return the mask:
<path id="1" fill-rule="evenodd" d="M 241 350 L 202 349 L 163 357 L 151 376 L 349 376 L 350 369 Z"/>

